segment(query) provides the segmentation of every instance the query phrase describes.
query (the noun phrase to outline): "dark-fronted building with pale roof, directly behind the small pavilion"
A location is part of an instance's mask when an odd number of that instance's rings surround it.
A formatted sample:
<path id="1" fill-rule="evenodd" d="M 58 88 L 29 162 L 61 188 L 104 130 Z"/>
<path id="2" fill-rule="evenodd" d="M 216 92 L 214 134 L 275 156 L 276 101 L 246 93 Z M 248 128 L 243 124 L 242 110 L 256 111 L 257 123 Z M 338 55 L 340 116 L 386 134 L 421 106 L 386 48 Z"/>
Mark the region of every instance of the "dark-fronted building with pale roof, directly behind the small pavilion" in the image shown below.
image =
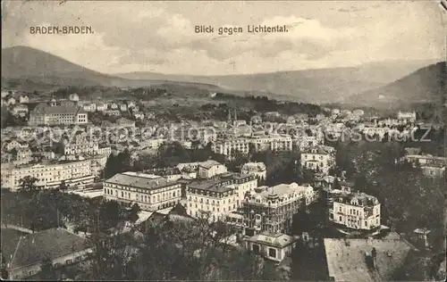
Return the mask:
<path id="1" fill-rule="evenodd" d="M 296 183 L 255 188 L 245 195 L 242 203 L 246 235 L 289 232 L 293 214 L 314 198 L 313 187 Z"/>

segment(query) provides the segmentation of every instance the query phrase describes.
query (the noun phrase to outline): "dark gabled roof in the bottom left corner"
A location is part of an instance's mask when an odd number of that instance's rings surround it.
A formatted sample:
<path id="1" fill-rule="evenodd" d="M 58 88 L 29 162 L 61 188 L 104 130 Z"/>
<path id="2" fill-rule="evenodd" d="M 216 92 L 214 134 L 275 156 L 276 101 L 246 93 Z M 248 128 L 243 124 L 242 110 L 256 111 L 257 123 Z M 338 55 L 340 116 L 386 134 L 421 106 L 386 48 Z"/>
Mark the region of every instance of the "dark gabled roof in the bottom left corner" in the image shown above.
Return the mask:
<path id="1" fill-rule="evenodd" d="M 13 270 L 40 263 L 46 258 L 54 260 L 90 247 L 89 240 L 63 228 L 47 229 L 19 238 L 8 269 Z"/>

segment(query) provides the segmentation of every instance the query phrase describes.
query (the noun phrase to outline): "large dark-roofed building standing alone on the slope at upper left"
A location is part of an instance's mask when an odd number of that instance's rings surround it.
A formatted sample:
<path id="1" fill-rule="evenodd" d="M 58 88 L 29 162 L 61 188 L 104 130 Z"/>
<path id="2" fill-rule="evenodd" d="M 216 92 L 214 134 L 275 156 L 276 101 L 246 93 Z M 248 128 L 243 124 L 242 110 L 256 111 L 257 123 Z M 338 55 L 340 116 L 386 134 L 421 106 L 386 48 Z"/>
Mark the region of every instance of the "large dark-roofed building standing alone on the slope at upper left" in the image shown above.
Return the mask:
<path id="1" fill-rule="evenodd" d="M 68 125 L 86 124 L 89 122 L 88 113 L 80 107 L 48 106 L 38 104 L 30 112 L 30 126 L 38 125 Z"/>

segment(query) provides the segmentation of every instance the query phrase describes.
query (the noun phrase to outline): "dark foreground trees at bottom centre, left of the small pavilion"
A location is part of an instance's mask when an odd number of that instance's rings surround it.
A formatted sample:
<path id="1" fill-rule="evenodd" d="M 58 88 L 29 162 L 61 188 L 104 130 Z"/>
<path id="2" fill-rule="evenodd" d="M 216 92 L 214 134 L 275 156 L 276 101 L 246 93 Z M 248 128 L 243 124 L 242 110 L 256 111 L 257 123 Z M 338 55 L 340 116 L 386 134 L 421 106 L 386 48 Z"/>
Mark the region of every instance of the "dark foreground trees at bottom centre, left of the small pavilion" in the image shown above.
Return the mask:
<path id="1" fill-rule="evenodd" d="M 82 280 L 278 280 L 273 265 L 224 244 L 230 228 L 206 220 L 149 221 L 136 233 L 92 236 Z M 135 236 L 133 234 L 139 234 Z"/>

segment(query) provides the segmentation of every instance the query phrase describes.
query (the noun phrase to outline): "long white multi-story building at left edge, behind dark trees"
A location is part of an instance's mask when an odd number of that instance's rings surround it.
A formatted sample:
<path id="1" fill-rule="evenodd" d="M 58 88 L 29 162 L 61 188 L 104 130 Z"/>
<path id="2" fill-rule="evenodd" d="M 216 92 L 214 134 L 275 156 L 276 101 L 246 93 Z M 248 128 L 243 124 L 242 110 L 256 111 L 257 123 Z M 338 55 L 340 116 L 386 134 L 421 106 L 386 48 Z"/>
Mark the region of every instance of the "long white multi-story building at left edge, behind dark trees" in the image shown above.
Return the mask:
<path id="1" fill-rule="evenodd" d="M 8 177 L 4 187 L 13 190 L 21 188 L 21 178 L 27 176 L 37 178 L 36 186 L 43 188 L 59 187 L 62 182 L 68 187 L 86 187 L 94 179 L 90 161 L 82 158 L 22 165 L 5 173 L 8 173 Z"/>

